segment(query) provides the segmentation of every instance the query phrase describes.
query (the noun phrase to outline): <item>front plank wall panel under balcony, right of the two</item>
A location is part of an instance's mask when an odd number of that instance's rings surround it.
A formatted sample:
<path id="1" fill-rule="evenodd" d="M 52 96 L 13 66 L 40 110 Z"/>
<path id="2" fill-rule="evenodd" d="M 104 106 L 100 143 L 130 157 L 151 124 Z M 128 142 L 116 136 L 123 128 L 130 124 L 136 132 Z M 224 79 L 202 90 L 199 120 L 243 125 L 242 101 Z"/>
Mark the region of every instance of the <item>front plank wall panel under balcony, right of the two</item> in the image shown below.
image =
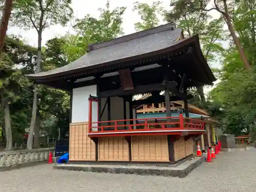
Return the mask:
<path id="1" fill-rule="evenodd" d="M 166 135 L 132 136 L 132 161 L 168 162 Z"/>

